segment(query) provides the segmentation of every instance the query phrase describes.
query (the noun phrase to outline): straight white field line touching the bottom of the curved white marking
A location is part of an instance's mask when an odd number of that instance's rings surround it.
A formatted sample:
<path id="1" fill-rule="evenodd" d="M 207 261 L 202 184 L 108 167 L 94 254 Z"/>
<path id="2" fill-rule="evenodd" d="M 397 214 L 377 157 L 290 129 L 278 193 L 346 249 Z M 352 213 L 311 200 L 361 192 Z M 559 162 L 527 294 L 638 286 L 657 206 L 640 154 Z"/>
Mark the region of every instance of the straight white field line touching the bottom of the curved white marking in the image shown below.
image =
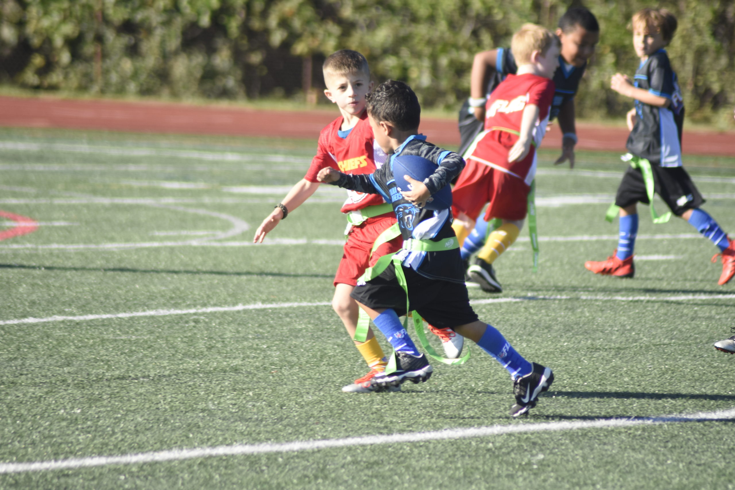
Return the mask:
<path id="1" fill-rule="evenodd" d="M 182 208 L 184 209 L 184 208 Z M 190 210 L 195 212 L 194 210 Z M 234 218 L 233 219 L 237 219 Z M 243 222 L 244 223 L 244 222 Z M 246 224 L 246 223 L 245 223 Z M 244 231 L 244 230 L 243 230 Z M 701 238 L 700 234 L 656 234 L 638 235 L 637 239 L 688 239 Z M 36 245 L 33 243 L 7 243 L 0 245 L 0 250 L 118 250 L 122 248 L 148 248 L 148 247 L 265 247 L 271 245 L 345 245 L 344 239 L 308 239 L 308 238 L 266 238 L 262 243 L 251 241 L 232 242 L 209 242 L 207 240 L 218 239 L 218 237 L 207 237 L 207 239 L 187 240 L 185 242 L 142 242 L 142 243 L 96 243 L 96 244 L 63 244 L 46 243 Z M 617 240 L 617 235 L 578 235 L 575 237 L 539 237 L 539 242 L 595 242 Z M 529 242 L 528 237 L 519 237 L 517 242 Z"/>

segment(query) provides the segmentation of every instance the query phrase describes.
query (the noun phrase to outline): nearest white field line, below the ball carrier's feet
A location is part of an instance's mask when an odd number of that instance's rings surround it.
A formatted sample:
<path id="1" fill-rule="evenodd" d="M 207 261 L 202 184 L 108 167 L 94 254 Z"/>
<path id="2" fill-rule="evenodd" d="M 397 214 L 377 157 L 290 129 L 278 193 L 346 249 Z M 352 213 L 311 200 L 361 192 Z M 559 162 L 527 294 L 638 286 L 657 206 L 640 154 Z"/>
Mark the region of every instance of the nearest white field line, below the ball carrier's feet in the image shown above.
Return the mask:
<path id="1" fill-rule="evenodd" d="M 398 433 L 381 436 L 358 436 L 344 439 L 317 439 L 312 441 L 282 442 L 276 444 L 232 444 L 229 446 L 192 447 L 150 453 L 134 453 L 119 456 L 90 456 L 30 463 L 0 463 L 0 474 L 77 469 L 112 464 L 159 463 L 182 461 L 212 456 L 236 456 L 264 453 L 295 453 L 335 447 L 370 446 L 379 444 L 410 444 L 412 442 L 448 441 L 476 437 L 502 436 L 514 433 L 539 433 L 562 430 L 599 428 L 628 428 L 641 425 L 662 425 L 682 422 L 714 422 L 735 417 L 735 408 L 697 414 L 664 415 L 659 417 L 633 417 L 629 419 L 597 419 L 565 422 L 541 422 L 514 425 L 490 425 L 488 427 L 434 430 L 431 432 Z"/>

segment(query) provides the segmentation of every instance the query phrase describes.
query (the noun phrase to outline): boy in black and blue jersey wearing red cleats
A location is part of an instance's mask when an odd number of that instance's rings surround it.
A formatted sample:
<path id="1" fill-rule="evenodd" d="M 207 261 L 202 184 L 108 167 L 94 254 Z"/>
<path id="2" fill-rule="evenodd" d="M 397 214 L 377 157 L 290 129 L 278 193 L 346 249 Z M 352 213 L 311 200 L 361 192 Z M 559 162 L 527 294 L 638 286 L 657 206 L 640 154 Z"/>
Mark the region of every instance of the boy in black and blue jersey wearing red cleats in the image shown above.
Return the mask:
<path id="1" fill-rule="evenodd" d="M 631 166 L 625 171 L 615 197 L 615 205 L 620 207 L 620 238 L 611 257 L 600 262 L 586 262 L 584 267 L 595 274 L 620 278 L 634 276 L 637 203 L 651 206 L 654 223 L 665 223 L 670 217 L 670 213 L 663 217 L 656 215 L 651 202 L 656 192 L 675 216 L 687 220 L 720 248 L 723 272 L 718 284 L 723 285 L 735 275 L 735 242 L 700 209 L 705 201 L 681 162 L 684 101 L 676 73 L 664 50 L 676 30 L 676 18 L 668 10 L 647 8 L 633 15 L 632 25 L 633 46 L 641 60 L 634 82 L 620 73 L 616 73 L 611 82 L 612 90 L 635 100 L 635 108 L 627 117 L 631 134 L 626 148 L 630 153 L 623 157 Z M 612 212 L 615 209 L 612 208 Z M 712 258 L 713 262 L 716 257 Z"/>

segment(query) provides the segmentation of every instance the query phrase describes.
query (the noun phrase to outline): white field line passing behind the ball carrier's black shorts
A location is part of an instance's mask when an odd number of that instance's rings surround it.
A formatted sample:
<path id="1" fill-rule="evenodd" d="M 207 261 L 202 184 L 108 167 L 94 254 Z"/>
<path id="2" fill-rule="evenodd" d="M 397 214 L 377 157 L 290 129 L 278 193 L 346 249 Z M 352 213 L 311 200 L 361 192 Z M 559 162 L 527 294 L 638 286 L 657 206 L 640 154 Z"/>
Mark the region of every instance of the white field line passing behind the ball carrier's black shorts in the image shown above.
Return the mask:
<path id="1" fill-rule="evenodd" d="M 514 298 L 487 298 L 482 300 L 470 300 L 472 305 L 487 305 L 491 303 L 517 303 L 521 301 L 537 301 L 537 300 L 586 300 L 586 301 L 691 301 L 691 300 L 735 300 L 735 293 L 731 295 L 678 295 L 678 296 L 556 296 L 556 295 L 536 295 L 536 296 L 517 296 Z M 305 306 L 330 306 L 328 301 L 320 301 L 315 303 L 253 303 L 250 305 L 236 306 L 209 306 L 205 308 L 191 309 L 156 309 L 148 311 L 129 311 L 126 313 L 109 313 L 109 314 L 85 314 L 77 316 L 54 315 L 45 318 L 18 318 L 15 320 L 0 320 L 0 325 L 20 325 L 29 323 L 49 323 L 49 322 L 83 322 L 88 320 L 110 320 L 121 318 L 137 318 L 137 317 L 168 317 L 179 314 L 204 314 L 204 313 L 222 313 L 229 311 L 246 311 L 256 309 L 279 309 L 279 308 L 300 308 Z"/>

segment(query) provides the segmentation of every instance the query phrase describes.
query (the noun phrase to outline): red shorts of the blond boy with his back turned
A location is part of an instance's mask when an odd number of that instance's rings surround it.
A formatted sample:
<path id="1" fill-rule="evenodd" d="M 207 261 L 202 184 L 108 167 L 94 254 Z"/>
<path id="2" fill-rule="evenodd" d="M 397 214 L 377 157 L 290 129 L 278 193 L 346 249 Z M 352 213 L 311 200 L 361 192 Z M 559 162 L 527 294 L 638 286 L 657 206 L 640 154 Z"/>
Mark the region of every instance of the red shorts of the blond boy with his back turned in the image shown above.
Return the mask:
<path id="1" fill-rule="evenodd" d="M 531 187 L 522 179 L 504 173 L 473 159 L 467 165 L 452 189 L 452 212 L 460 212 L 477 220 L 485 203 L 485 220 L 499 217 L 504 220 L 523 220 L 528 212 L 528 192 Z"/>

